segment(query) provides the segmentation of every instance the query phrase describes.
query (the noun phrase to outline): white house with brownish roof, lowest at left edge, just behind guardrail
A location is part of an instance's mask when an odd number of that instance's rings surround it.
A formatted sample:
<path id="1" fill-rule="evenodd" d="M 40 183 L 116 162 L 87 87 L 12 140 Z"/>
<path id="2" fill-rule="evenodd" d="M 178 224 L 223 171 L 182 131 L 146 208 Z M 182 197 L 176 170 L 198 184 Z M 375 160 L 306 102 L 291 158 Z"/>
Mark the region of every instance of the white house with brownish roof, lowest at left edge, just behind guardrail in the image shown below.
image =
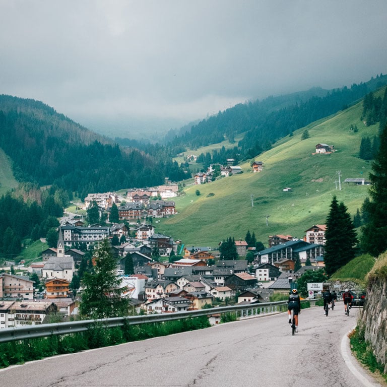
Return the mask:
<path id="1" fill-rule="evenodd" d="M 53 302 L 0 300 L 0 329 L 40 325 L 48 314 L 56 311 Z"/>

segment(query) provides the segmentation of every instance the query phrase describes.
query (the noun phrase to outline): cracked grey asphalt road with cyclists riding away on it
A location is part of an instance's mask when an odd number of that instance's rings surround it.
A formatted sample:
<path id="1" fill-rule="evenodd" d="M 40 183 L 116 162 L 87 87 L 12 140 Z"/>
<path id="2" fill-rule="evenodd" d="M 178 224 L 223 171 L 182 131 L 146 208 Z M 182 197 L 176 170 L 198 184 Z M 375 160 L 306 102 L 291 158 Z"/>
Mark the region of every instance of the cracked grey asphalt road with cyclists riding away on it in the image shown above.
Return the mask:
<path id="1" fill-rule="evenodd" d="M 359 366 L 347 334 L 349 317 L 337 305 L 303 309 L 299 333 L 291 335 L 287 314 L 229 322 L 185 332 L 62 355 L 0 370 L 7 387 L 374 387 Z"/>

